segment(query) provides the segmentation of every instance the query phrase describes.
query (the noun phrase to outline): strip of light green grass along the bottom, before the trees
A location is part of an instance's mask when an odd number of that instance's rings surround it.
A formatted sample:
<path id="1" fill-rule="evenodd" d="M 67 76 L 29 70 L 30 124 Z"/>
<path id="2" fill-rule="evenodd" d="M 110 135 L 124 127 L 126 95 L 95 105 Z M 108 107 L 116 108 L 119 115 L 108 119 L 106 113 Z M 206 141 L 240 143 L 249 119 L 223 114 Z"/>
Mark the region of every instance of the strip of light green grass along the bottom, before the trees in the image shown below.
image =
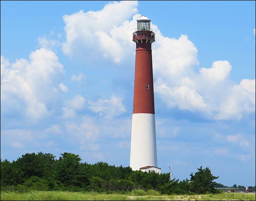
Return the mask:
<path id="1" fill-rule="evenodd" d="M 151 194 L 151 195 L 148 195 Z M 130 194 L 101 194 L 96 192 L 61 192 L 61 191 L 32 191 L 32 192 L 1 192 L 1 200 L 255 200 L 255 193 L 220 193 L 206 195 L 145 195 Z"/>

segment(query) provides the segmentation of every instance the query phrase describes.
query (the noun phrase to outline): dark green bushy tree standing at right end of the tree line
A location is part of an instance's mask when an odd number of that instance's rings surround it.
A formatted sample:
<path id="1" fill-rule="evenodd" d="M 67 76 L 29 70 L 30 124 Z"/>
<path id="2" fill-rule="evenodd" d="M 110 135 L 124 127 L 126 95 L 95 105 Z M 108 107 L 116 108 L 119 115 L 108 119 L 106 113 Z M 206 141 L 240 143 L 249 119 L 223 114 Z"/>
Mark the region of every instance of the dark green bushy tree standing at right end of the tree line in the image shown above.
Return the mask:
<path id="1" fill-rule="evenodd" d="M 198 168 L 198 172 L 195 172 L 195 175 L 191 173 L 190 178 L 190 190 L 195 193 L 214 193 L 216 190 L 214 186 L 217 184 L 213 180 L 219 178 L 212 175 L 209 167 L 203 169 L 201 166 Z"/>

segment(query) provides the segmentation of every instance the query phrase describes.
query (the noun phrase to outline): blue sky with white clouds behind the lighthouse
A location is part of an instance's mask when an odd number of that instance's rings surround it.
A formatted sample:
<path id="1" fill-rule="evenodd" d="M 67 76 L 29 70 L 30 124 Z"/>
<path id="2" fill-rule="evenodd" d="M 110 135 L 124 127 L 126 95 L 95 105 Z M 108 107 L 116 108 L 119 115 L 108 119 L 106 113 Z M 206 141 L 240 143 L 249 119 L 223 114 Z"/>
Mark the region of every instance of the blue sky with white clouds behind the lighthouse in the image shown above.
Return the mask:
<path id="1" fill-rule="evenodd" d="M 1 158 L 130 162 L 137 19 L 151 20 L 157 163 L 255 186 L 255 1 L 0 2 Z"/>

